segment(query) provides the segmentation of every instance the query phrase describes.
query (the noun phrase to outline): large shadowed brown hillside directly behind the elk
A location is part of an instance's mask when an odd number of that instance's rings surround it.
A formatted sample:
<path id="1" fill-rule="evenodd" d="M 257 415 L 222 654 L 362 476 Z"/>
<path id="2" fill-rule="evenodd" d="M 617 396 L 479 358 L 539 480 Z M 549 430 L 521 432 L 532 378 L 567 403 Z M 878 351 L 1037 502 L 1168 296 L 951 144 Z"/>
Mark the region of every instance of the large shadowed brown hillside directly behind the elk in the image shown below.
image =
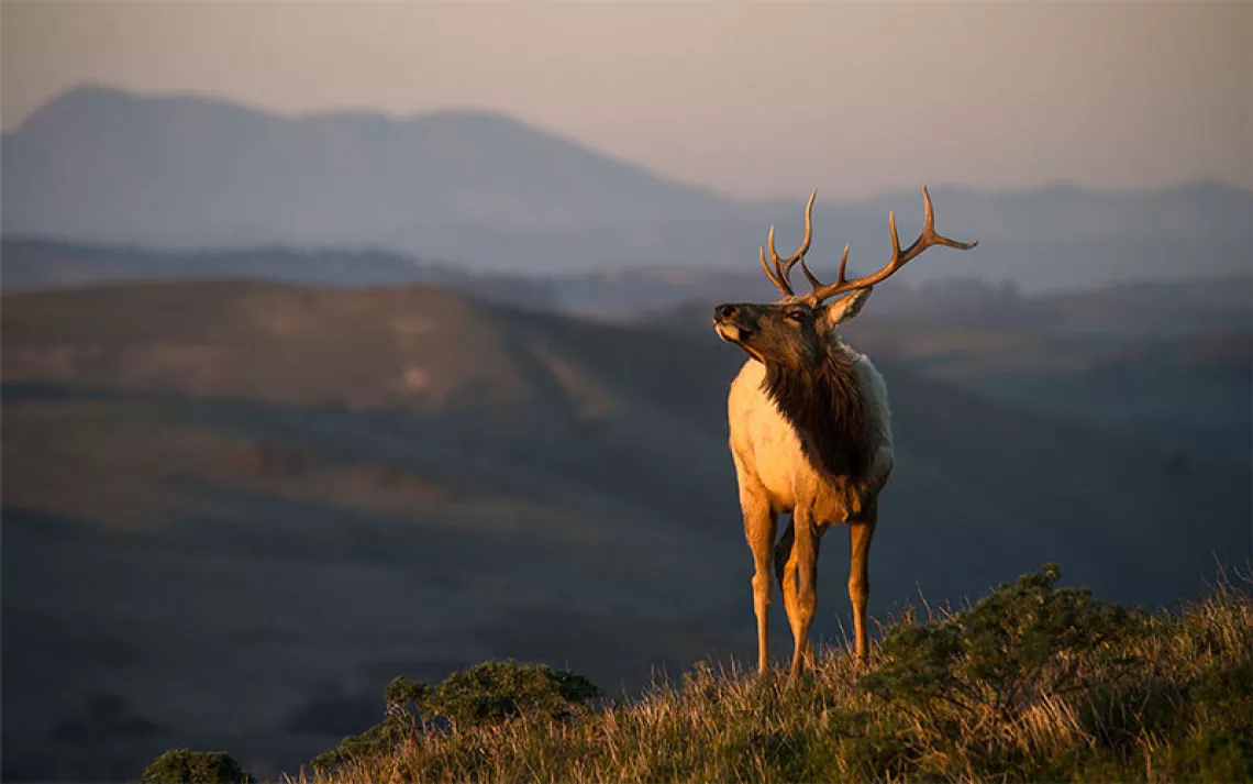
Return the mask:
<path id="1" fill-rule="evenodd" d="M 133 776 L 174 745 L 289 769 L 373 723 L 392 676 L 484 659 L 613 692 L 752 651 L 742 358 L 712 335 L 256 281 L 6 295 L 0 317 L 6 780 Z M 1045 561 L 1168 603 L 1247 557 L 1247 472 L 881 365 L 873 615 Z"/>

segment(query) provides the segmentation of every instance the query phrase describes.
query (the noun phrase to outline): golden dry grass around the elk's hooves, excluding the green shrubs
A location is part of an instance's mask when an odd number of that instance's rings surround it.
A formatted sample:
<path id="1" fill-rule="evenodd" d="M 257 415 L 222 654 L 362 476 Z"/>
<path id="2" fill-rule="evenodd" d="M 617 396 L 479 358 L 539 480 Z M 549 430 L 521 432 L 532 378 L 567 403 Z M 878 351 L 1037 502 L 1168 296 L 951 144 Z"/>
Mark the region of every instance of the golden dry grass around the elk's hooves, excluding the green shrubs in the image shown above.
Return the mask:
<path id="1" fill-rule="evenodd" d="M 1140 618 L 1081 666 L 1050 660 L 1009 702 L 986 682 L 885 697 L 867 687 L 890 672 L 883 649 L 858 667 L 838 647 L 792 686 L 702 664 L 569 720 L 415 725 L 391 750 L 293 781 L 1253 780 L 1253 600 L 1237 582 Z M 910 625 L 925 626 L 892 627 Z M 1065 667 L 1081 671 L 1070 686 L 1035 689 Z"/>

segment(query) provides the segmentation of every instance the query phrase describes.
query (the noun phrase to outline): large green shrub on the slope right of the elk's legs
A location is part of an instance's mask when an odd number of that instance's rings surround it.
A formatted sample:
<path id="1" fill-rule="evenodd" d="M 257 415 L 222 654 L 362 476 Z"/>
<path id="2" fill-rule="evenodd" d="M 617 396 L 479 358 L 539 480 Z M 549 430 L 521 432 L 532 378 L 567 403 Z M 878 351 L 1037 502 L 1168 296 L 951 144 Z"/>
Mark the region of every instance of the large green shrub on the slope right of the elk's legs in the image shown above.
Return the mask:
<path id="1" fill-rule="evenodd" d="M 1110 690 L 1104 709 L 1130 735 L 1114 733 L 1110 723 L 1089 728 L 1099 726 L 1110 753 L 1135 738 L 1140 716 L 1119 714 L 1128 705 L 1123 689 L 1140 662 L 1129 651 L 1149 633 L 1149 618 L 1094 600 L 1088 588 L 1059 588 L 1060 577 L 1046 564 L 974 607 L 922 625 L 898 623 L 883 638 L 882 665 L 858 690 L 911 720 L 915 729 L 900 745 L 915 775 L 1066 778 L 1094 754 L 1108 756 L 1094 751 L 1098 733 L 1085 731 L 1084 711 L 1070 707 L 1103 687 Z"/>

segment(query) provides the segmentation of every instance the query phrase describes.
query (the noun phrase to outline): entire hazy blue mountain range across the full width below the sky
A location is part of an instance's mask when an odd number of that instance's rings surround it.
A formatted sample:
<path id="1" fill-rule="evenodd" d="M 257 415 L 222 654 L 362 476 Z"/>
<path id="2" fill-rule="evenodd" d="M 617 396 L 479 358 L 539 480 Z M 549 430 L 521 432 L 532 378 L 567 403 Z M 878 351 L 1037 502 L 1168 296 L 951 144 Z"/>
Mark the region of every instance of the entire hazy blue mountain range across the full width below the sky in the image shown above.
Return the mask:
<path id="1" fill-rule="evenodd" d="M 751 268 L 772 223 L 782 245 L 796 240 L 806 196 L 723 198 L 487 112 L 287 118 L 100 87 L 35 112 L 4 135 L 3 154 L 6 233 L 175 250 L 386 248 L 524 272 Z M 1248 191 L 932 184 L 941 228 L 982 245 L 920 262 L 911 268 L 918 280 L 974 275 L 1059 289 L 1249 266 Z M 819 201 L 816 266 L 829 267 L 846 240 L 855 268 L 877 263 L 888 209 L 907 233 L 920 202 L 916 191 Z"/>

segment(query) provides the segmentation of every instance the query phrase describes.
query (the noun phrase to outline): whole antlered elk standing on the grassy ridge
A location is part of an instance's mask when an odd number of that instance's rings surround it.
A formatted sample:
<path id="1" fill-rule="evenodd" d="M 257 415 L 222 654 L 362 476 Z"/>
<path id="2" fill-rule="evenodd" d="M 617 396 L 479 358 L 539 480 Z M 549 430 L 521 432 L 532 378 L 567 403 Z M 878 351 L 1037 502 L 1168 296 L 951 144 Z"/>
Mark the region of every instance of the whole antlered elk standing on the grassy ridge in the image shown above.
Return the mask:
<path id="1" fill-rule="evenodd" d="M 818 546 L 834 523 L 848 526 L 848 598 L 858 661 L 867 655 L 867 558 L 878 519 L 878 493 L 892 473 L 892 426 L 887 386 L 870 359 L 843 342 L 836 327 L 861 312 L 876 283 L 887 280 L 932 246 L 969 250 L 935 231 L 931 194 L 922 188 L 922 233 L 901 250 L 896 215 L 888 215 L 892 257 L 865 277 L 846 277 L 848 245 L 834 282 L 822 283 L 806 265 L 813 238 L 813 201 L 804 211 L 801 248 L 779 258 L 771 227 L 771 262 L 761 248 L 766 277 L 783 294 L 778 302 L 733 302 L 714 309 L 714 330 L 748 355 L 730 385 L 727 401 L 730 454 L 739 483 L 744 536 L 753 552 L 753 611 L 757 615 L 758 670 L 769 667 L 767 617 L 771 562 L 783 592 L 783 607 L 794 637 L 791 679 L 813 666 L 809 625 L 817 610 Z M 812 291 L 797 295 L 792 267 Z M 827 304 L 837 295 L 847 295 Z M 774 542 L 781 513 L 791 513 L 787 531 Z"/>

